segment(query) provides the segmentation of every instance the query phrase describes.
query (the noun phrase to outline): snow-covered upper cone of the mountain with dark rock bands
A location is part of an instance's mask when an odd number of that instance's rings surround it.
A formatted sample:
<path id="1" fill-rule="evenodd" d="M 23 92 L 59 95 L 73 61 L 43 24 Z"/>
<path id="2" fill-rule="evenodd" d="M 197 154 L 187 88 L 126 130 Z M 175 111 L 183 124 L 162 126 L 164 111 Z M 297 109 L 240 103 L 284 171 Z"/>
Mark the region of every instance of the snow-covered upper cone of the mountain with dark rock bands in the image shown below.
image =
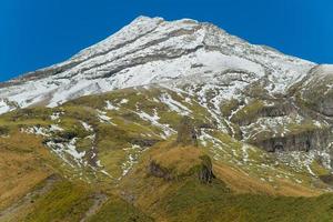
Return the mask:
<path id="1" fill-rule="evenodd" d="M 181 83 L 189 77 L 213 81 L 231 70 L 250 74 L 249 81 L 263 82 L 272 93 L 283 93 L 314 65 L 250 44 L 210 23 L 140 17 L 68 61 L 4 83 L 0 113 L 10 110 L 8 102 L 57 107 L 81 95 L 170 80 Z"/>

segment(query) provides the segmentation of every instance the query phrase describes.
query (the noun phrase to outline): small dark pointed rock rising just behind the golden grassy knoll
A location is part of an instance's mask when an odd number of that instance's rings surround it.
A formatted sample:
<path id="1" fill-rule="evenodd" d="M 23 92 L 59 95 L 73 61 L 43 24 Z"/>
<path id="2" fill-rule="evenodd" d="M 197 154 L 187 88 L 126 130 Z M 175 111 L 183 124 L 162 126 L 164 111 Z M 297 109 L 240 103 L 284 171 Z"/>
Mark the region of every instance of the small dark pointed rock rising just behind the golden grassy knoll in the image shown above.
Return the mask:
<path id="1" fill-rule="evenodd" d="M 189 117 L 183 117 L 179 124 L 176 143 L 182 145 L 198 145 L 194 123 Z"/>

